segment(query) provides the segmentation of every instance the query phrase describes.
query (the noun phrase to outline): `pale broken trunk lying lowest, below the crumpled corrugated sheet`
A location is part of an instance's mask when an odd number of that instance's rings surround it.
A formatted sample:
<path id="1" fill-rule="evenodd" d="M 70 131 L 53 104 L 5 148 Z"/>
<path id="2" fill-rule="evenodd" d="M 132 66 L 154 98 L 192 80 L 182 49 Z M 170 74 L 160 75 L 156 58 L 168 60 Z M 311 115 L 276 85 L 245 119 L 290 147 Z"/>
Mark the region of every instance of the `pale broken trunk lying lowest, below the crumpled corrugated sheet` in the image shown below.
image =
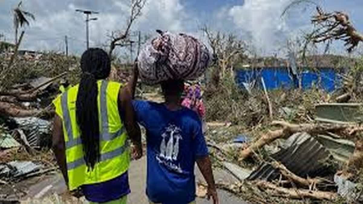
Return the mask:
<path id="1" fill-rule="evenodd" d="M 301 198 L 311 198 L 318 200 L 334 200 L 338 197 L 337 193 L 326 192 L 326 191 L 310 191 L 306 189 L 289 189 L 279 187 L 275 184 L 272 184 L 268 181 L 257 181 L 254 183 L 260 188 L 264 189 L 272 189 L 276 191 L 278 194 L 282 193 L 282 196 L 286 196 L 292 199 L 301 199 Z"/>

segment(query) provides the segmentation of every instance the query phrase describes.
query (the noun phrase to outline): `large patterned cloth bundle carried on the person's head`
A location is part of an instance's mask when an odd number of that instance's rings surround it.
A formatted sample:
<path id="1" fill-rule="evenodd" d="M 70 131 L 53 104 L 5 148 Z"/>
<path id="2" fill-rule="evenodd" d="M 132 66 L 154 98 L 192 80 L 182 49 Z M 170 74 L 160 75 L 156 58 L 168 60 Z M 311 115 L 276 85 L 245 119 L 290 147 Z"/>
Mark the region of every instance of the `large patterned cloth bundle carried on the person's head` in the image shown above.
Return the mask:
<path id="1" fill-rule="evenodd" d="M 140 79 L 155 85 L 168 79 L 193 80 L 207 69 L 211 55 L 202 42 L 187 34 L 159 32 L 140 50 Z"/>

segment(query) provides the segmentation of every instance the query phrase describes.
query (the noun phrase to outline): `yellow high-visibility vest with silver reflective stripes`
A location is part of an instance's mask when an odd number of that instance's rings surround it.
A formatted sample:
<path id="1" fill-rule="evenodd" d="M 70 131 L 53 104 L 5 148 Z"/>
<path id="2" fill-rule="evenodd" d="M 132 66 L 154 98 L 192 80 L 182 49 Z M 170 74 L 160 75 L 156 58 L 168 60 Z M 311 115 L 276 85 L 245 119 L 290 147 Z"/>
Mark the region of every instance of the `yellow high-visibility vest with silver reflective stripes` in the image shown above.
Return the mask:
<path id="1" fill-rule="evenodd" d="M 100 161 L 90 171 L 83 159 L 82 142 L 76 122 L 78 85 L 71 87 L 53 101 L 56 113 L 63 124 L 70 191 L 83 184 L 95 184 L 114 179 L 125 173 L 130 166 L 128 136 L 118 110 L 118 93 L 121 84 L 99 80 L 97 85 L 101 156 Z"/>

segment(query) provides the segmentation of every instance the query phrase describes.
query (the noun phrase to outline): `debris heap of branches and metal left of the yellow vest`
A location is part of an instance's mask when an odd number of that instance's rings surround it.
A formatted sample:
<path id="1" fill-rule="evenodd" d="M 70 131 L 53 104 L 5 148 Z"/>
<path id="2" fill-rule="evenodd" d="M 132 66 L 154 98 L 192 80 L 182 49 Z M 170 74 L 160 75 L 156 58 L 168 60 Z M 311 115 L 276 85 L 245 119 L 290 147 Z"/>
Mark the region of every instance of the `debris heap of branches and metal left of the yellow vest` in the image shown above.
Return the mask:
<path id="1" fill-rule="evenodd" d="M 29 56 L 18 47 L 0 53 L 0 203 L 19 203 L 37 193 L 31 186 L 59 173 L 50 151 L 51 102 L 64 81 L 73 84 L 79 76 L 76 57 Z"/>

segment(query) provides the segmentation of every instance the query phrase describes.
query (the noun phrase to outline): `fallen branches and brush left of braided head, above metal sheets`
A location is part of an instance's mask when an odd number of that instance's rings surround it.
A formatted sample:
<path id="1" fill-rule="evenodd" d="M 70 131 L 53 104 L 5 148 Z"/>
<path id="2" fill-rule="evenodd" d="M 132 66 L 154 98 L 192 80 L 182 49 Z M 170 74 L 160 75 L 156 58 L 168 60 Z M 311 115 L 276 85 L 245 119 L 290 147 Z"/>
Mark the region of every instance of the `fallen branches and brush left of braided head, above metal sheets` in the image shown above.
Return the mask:
<path id="1" fill-rule="evenodd" d="M 44 93 L 42 87 L 61 78 L 67 78 L 70 83 L 78 81 L 80 73 L 76 57 L 57 53 L 19 56 L 17 51 L 23 35 L 24 32 L 13 52 L 0 54 L 0 115 L 3 116 L 28 117 L 48 113 L 50 109 L 29 109 L 23 102 L 38 103 L 38 98 Z M 52 78 L 37 87 L 30 86 L 29 81 L 39 77 Z"/>

